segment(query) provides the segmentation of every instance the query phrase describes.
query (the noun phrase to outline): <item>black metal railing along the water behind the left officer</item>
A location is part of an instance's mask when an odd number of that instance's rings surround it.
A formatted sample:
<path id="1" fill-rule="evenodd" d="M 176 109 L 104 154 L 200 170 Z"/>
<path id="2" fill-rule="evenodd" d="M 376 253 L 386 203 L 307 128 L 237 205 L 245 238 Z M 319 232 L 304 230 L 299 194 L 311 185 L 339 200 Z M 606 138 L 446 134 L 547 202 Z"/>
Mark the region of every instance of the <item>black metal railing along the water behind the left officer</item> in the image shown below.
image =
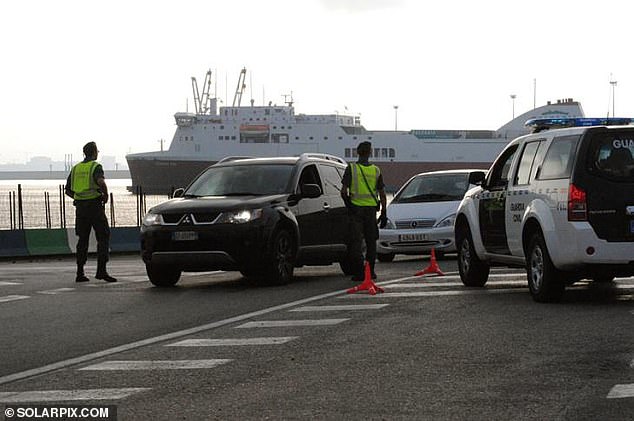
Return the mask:
<path id="1" fill-rule="evenodd" d="M 169 199 L 167 195 L 146 195 L 142 188 L 135 194 L 110 193 L 106 214 L 111 227 L 140 226 L 147 209 Z M 64 194 L 64 185 L 55 193 L 17 190 L 0 196 L 0 230 L 31 228 L 67 228 L 75 226 L 73 199 Z"/>

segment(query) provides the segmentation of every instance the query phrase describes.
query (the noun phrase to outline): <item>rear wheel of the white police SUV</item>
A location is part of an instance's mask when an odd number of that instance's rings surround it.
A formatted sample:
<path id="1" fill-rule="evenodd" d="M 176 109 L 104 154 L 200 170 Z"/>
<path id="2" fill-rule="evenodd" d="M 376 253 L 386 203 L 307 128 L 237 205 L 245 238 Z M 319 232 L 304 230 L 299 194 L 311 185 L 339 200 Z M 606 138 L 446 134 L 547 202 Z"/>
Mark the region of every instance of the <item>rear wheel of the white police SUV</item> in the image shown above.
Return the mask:
<path id="1" fill-rule="evenodd" d="M 540 233 L 533 234 L 527 257 L 526 275 L 533 299 L 540 303 L 560 301 L 566 289 L 564 274 L 553 265 Z"/>

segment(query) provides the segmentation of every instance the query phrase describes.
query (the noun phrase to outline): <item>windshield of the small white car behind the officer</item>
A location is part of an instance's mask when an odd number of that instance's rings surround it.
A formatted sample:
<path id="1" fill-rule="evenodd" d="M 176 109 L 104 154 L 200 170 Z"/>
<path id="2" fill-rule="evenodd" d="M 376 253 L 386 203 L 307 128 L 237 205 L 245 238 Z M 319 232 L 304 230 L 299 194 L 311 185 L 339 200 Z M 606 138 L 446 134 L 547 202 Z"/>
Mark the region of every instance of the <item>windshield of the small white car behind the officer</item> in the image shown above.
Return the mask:
<path id="1" fill-rule="evenodd" d="M 462 200 L 469 187 L 469 174 L 433 174 L 413 178 L 392 203 L 448 202 Z"/>

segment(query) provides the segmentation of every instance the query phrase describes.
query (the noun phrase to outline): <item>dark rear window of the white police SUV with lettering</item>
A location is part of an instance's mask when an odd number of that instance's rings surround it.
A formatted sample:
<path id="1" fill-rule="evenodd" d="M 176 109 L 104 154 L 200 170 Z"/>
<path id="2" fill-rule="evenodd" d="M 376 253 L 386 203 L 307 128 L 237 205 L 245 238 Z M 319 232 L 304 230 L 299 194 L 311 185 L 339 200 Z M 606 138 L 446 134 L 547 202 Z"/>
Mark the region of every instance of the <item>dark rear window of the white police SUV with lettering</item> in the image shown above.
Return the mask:
<path id="1" fill-rule="evenodd" d="M 634 132 L 609 131 L 597 134 L 590 143 L 588 168 L 592 173 L 616 181 L 634 181 Z"/>

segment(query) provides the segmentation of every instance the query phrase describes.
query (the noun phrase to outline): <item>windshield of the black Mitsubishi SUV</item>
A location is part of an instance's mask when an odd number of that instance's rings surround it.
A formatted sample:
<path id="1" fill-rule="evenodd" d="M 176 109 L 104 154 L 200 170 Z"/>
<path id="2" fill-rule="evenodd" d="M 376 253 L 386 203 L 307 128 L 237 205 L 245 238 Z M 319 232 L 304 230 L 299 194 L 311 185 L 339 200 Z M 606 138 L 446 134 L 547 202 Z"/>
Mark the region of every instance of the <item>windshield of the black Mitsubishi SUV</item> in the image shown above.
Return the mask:
<path id="1" fill-rule="evenodd" d="M 186 197 L 266 196 L 285 193 L 293 165 L 258 164 L 210 167 L 185 191 Z"/>

